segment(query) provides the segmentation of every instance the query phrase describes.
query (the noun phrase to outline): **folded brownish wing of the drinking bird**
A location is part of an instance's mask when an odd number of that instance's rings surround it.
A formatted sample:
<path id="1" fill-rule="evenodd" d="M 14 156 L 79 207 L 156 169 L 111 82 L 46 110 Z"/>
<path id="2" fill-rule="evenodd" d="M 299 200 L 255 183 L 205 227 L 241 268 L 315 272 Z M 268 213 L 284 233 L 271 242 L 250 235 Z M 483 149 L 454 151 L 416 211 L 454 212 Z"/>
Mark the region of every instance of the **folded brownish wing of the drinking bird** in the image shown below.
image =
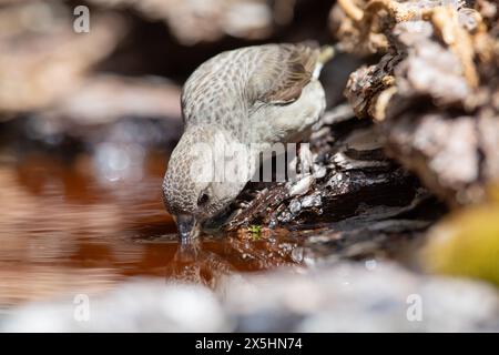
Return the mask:
<path id="1" fill-rule="evenodd" d="M 269 104 L 291 103 L 312 80 L 320 49 L 315 43 L 271 44 L 261 52 L 252 78 L 254 99 Z"/>

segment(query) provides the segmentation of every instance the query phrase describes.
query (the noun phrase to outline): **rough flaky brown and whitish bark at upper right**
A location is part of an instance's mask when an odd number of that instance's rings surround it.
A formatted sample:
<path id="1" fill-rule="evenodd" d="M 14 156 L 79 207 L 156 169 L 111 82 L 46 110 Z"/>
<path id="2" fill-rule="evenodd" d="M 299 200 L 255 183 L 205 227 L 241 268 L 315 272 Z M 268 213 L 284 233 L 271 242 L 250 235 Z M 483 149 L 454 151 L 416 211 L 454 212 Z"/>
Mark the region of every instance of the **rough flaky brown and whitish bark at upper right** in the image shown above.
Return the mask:
<path id="1" fill-rule="evenodd" d="M 344 48 L 384 53 L 350 74 L 345 94 L 428 189 L 450 206 L 478 203 L 499 179 L 497 6 L 432 3 L 338 2 L 332 19 Z"/>

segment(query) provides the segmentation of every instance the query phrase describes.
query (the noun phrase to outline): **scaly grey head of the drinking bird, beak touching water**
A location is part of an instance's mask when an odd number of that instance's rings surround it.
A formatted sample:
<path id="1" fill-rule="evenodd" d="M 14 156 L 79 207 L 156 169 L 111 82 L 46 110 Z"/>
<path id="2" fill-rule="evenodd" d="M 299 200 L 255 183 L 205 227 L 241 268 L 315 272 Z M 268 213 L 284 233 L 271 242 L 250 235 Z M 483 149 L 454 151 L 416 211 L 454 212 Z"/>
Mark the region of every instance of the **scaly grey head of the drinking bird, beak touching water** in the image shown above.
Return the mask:
<path id="1" fill-rule="evenodd" d="M 163 200 L 183 241 L 195 237 L 201 224 L 223 212 L 243 190 L 247 154 L 234 154 L 235 140 L 215 126 L 186 130 L 169 161 Z M 237 146 L 240 150 L 244 145 Z"/>

